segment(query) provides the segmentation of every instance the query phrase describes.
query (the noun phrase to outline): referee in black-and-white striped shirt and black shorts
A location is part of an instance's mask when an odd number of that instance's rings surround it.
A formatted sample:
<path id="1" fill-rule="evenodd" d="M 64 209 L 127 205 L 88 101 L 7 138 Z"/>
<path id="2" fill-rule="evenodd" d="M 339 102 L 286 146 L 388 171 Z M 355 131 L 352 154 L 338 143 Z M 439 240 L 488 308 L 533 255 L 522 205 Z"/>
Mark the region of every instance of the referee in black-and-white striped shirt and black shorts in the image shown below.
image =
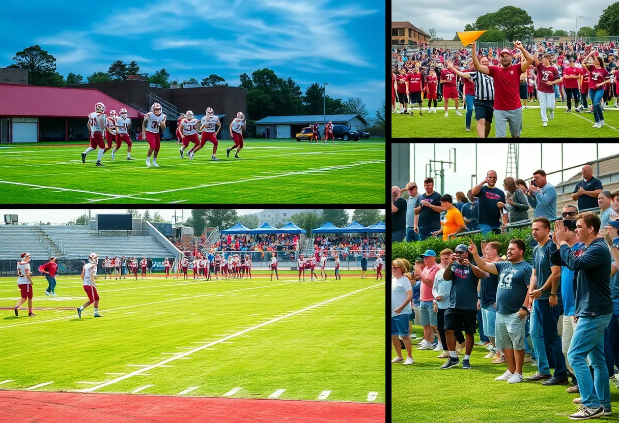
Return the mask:
<path id="1" fill-rule="evenodd" d="M 476 54 L 475 52 L 473 54 Z M 486 56 L 479 58 L 482 65 L 488 66 L 490 61 Z M 475 83 L 475 119 L 477 119 L 477 135 L 480 138 L 488 138 L 492 125 L 495 101 L 495 83 L 491 76 L 483 74 L 478 70 L 470 72 L 460 72 L 454 67 L 451 60 L 447 61 L 447 66 L 456 72 L 461 78 L 470 79 Z"/>

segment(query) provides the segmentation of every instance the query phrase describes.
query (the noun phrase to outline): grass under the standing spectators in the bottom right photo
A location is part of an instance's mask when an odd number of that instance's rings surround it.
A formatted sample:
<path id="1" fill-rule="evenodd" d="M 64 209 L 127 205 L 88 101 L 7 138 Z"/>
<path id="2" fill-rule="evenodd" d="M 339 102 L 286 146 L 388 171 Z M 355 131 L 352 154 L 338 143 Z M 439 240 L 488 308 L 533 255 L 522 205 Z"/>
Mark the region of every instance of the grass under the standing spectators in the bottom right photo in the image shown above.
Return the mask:
<path id="1" fill-rule="evenodd" d="M 494 378 L 507 367 L 483 358 L 488 354 L 483 346 L 474 346 L 470 370 L 462 370 L 462 365 L 443 370 L 445 359 L 436 358 L 438 352 L 417 349 L 423 337 L 422 328 L 413 326 L 413 333 L 418 337 L 413 340 L 415 363 L 391 365 L 394 423 L 410 422 L 411 414 L 416 423 L 565 423 L 569 421 L 568 414 L 578 411 L 576 404 L 572 404 L 578 395 L 565 391 L 571 385 L 545 387 L 541 382 L 496 382 Z M 478 340 L 476 336 L 475 341 Z M 392 357 L 395 356 L 392 349 Z M 530 364 L 524 364 L 522 369 L 524 377 L 536 370 Z M 615 383 L 610 392 L 612 404 L 617 406 L 619 390 Z M 600 417 L 600 421 L 617 421 L 617 411 L 613 410 L 612 416 Z"/>

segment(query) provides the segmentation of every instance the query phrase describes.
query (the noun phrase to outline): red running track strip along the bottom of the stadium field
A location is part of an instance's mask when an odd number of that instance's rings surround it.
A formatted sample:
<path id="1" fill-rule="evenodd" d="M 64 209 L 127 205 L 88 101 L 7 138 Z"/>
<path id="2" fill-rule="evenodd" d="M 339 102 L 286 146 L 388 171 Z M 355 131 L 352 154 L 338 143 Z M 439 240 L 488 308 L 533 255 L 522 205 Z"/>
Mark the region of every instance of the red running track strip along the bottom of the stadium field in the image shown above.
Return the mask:
<path id="1" fill-rule="evenodd" d="M 384 423 L 385 404 L 0 391 L 0 421 Z"/>

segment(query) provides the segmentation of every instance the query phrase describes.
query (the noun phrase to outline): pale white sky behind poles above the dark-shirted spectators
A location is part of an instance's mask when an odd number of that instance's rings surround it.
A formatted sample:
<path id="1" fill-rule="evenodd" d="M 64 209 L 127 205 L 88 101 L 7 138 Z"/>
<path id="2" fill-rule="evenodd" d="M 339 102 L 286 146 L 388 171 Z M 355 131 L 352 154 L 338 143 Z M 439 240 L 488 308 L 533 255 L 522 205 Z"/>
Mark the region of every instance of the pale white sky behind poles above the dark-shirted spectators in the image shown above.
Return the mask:
<path id="1" fill-rule="evenodd" d="M 619 153 L 617 143 L 600 143 L 598 148 L 599 158 L 615 155 Z M 423 179 L 425 179 L 425 165 L 435 158 L 435 145 L 433 143 L 417 143 L 413 151 L 413 144 L 410 145 L 410 175 L 411 181 L 417 182 L 417 186 L 423 191 Z M 471 175 L 475 174 L 475 144 L 474 143 L 450 143 L 436 144 L 436 160 L 449 161 L 449 148 L 456 148 L 456 173 L 445 169 L 445 192 L 441 194 L 455 195 L 457 191 L 466 192 L 472 188 Z M 543 156 L 540 153 L 539 143 L 521 143 L 519 145 L 519 173 L 521 179 L 529 181 L 533 177 L 534 171 L 542 168 L 547 174 L 561 169 L 561 144 L 545 143 L 543 145 Z M 414 153 L 414 154 L 413 154 Z M 483 181 L 489 170 L 496 171 L 498 177 L 498 187 L 503 188 L 507 164 L 508 143 L 495 143 L 491 148 L 487 145 L 477 145 L 477 178 L 475 185 Z M 416 157 L 415 157 L 416 156 Z M 540 160 L 543 158 L 543 160 Z M 587 148 L 578 148 L 576 144 L 563 144 L 563 166 L 576 166 L 586 161 L 595 160 L 595 143 L 587 144 Z M 548 175 L 548 182 L 553 185 L 562 180 L 569 179 L 579 174 L 581 167 L 565 171 L 563 179 L 561 173 Z M 595 166 L 594 166 L 595 172 Z M 413 176 L 414 175 L 414 176 Z M 435 179 L 435 190 L 440 192 L 439 181 Z"/>

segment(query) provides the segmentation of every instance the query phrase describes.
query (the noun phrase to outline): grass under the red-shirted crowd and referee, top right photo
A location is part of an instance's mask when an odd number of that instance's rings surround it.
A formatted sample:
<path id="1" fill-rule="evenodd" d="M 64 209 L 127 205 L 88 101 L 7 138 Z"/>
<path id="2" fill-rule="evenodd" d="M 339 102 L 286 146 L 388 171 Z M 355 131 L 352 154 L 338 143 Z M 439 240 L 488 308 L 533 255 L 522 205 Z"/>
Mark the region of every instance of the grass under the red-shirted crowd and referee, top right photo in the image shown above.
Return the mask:
<path id="1" fill-rule="evenodd" d="M 527 102 L 530 106 L 539 106 L 539 103 Z M 415 107 L 414 117 L 409 114 L 391 114 L 392 129 L 391 134 L 394 138 L 477 138 L 477 120 L 475 112 L 471 117 L 471 130 L 465 130 L 465 114 L 460 101 L 458 109 L 462 116 L 456 115 L 453 109 L 453 100 L 449 101 L 449 117 L 445 117 L 443 101 L 436 106 L 436 113 L 428 113 L 428 102 L 424 101 L 422 108 L 423 116 L 419 116 L 419 109 Z M 589 101 L 591 107 L 591 101 Z M 539 108 L 522 109 L 522 134 L 521 137 L 543 137 L 543 138 L 581 138 L 581 137 L 617 137 L 619 136 L 619 109 L 615 109 L 612 103 L 604 110 L 605 126 L 596 129 L 591 126 L 595 123 L 592 113 L 566 113 L 566 103 L 557 103 L 555 108 L 555 119 L 548 121 L 548 126 L 542 126 L 542 116 Z M 509 125 L 507 130 L 508 137 Z M 493 121 L 490 138 L 496 136 L 495 124 Z"/>

